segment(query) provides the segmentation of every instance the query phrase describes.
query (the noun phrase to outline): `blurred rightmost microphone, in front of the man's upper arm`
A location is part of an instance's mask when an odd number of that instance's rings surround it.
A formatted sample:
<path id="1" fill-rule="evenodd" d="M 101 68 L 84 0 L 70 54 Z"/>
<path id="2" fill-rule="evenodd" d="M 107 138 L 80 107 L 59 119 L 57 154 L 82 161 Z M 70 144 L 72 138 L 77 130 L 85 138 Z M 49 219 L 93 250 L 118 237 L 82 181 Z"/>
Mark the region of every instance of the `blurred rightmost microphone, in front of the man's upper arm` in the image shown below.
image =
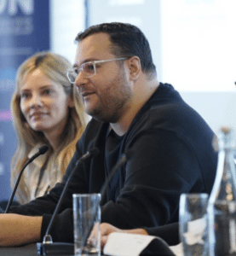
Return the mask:
<path id="1" fill-rule="evenodd" d="M 108 177 L 106 178 L 105 183 L 103 184 L 103 186 L 101 187 L 101 203 L 103 201 L 105 201 L 105 196 L 108 194 L 108 185 L 112 180 L 112 177 L 115 175 L 115 173 L 118 171 L 118 169 L 120 169 L 122 166 L 124 166 L 124 164 L 127 162 L 127 160 L 130 159 L 130 157 L 133 154 L 133 150 L 132 149 L 128 149 L 124 154 L 121 155 L 120 160 L 118 160 L 118 162 L 116 163 L 115 166 L 113 166 L 112 171 L 109 173 Z"/>

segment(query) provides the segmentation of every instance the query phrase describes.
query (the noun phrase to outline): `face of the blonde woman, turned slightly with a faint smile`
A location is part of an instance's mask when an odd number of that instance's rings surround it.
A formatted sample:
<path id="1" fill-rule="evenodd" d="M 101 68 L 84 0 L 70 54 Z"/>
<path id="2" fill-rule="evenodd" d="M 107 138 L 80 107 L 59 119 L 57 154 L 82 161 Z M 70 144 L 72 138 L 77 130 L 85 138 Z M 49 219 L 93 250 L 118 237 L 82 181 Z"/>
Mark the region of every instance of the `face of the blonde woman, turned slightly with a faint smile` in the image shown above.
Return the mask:
<path id="1" fill-rule="evenodd" d="M 73 107 L 71 96 L 63 86 L 45 76 L 40 69 L 26 75 L 20 87 L 20 109 L 27 123 L 35 131 L 59 136 Z"/>

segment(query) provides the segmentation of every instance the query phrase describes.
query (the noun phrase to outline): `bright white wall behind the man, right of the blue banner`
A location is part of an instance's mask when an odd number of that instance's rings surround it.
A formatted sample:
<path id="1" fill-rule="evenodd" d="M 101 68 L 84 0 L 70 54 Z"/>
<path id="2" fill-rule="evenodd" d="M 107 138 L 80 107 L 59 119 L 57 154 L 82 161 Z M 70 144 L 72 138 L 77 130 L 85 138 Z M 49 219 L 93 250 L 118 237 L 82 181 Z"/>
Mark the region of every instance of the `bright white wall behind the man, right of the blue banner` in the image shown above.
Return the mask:
<path id="1" fill-rule="evenodd" d="M 90 0 L 90 24 L 140 26 L 150 41 L 158 79 L 173 84 L 213 131 L 222 125 L 236 130 L 236 16 L 230 9 L 235 2 Z M 85 26 L 84 0 L 51 0 L 51 14 L 51 49 L 73 61 L 74 38 Z"/>

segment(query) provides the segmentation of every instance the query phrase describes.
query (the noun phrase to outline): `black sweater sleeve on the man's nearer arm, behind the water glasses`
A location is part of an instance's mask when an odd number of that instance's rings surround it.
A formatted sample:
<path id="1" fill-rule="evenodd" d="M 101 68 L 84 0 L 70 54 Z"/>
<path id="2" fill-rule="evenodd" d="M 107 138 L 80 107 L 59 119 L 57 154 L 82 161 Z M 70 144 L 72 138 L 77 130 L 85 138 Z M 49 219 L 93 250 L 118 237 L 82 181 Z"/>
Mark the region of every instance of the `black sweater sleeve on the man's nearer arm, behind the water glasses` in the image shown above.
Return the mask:
<path id="1" fill-rule="evenodd" d="M 133 145 L 124 187 L 102 207 L 102 222 L 121 229 L 178 221 L 179 198 L 194 187 L 204 190 L 193 149 L 170 131 L 150 131 Z"/>

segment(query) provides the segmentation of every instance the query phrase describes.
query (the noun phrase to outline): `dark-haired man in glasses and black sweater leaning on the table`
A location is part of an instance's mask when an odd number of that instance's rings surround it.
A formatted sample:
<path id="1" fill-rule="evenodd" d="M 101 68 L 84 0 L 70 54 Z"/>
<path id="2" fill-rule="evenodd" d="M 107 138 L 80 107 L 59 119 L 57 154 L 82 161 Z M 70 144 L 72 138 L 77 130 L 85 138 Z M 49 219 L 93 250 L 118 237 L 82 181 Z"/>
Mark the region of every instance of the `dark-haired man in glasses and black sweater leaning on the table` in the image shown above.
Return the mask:
<path id="1" fill-rule="evenodd" d="M 211 147 L 213 132 L 170 84 L 158 82 L 143 33 L 132 25 L 107 23 L 90 27 L 76 41 L 77 77 L 68 77 L 93 119 L 78 141 L 63 182 L 49 195 L 11 208 L 26 216 L 1 216 L 8 229 L 0 233 L 2 245 L 43 239 L 67 177 L 91 148 L 100 154 L 85 160 L 73 175 L 50 232 L 53 241 L 73 241 L 72 194 L 100 192 L 129 149 L 130 160 L 116 172 L 101 202 L 102 222 L 119 229 L 175 223 L 181 193 L 212 189 L 217 160 Z"/>

